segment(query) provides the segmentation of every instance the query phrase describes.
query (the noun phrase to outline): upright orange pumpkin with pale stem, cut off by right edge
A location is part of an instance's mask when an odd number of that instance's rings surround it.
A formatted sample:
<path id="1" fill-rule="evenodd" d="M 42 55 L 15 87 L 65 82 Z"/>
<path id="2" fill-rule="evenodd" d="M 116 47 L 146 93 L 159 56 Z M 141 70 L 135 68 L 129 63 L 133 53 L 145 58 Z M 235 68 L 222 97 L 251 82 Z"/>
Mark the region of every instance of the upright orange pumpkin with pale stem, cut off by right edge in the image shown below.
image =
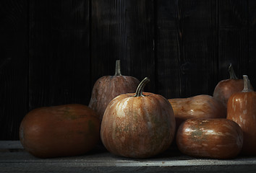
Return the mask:
<path id="1" fill-rule="evenodd" d="M 227 105 L 227 119 L 238 123 L 244 133 L 242 154 L 256 154 L 256 92 L 250 88 L 247 75 L 244 89 L 231 95 Z"/>

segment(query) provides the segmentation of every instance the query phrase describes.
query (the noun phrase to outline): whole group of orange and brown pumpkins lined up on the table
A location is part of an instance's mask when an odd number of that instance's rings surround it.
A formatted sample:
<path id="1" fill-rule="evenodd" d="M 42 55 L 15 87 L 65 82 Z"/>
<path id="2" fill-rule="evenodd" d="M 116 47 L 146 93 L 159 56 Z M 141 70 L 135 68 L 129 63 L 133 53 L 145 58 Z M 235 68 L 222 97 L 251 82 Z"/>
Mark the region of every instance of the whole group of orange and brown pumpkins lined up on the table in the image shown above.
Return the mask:
<path id="1" fill-rule="evenodd" d="M 116 74 L 95 82 L 90 104 L 40 107 L 25 115 L 20 141 L 41 158 L 77 156 L 99 141 L 117 156 L 149 158 L 176 143 L 182 153 L 213 159 L 256 154 L 256 92 L 247 76 L 220 81 L 213 96 L 166 99 Z"/>

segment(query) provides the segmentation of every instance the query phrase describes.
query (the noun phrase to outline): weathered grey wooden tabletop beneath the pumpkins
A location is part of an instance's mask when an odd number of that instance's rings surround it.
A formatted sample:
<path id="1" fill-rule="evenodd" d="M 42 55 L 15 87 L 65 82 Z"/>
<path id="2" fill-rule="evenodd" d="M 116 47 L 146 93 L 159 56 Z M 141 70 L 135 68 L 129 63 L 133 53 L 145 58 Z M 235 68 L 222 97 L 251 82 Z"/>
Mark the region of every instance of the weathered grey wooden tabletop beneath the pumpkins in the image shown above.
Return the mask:
<path id="1" fill-rule="evenodd" d="M 256 156 L 197 159 L 173 147 L 155 158 L 127 159 L 98 146 L 85 156 L 39 159 L 24 151 L 20 141 L 0 141 L 0 172 L 256 172 Z"/>

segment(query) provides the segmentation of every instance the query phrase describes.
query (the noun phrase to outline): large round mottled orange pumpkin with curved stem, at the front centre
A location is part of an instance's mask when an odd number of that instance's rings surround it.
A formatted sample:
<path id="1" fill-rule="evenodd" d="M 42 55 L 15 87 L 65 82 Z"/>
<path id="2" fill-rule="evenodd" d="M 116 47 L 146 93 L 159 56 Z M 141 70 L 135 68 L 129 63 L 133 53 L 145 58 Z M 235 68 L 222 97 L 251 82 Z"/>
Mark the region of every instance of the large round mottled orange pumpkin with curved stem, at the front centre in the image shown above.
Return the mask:
<path id="1" fill-rule="evenodd" d="M 166 98 L 142 92 L 145 78 L 136 93 L 121 94 L 106 107 L 101 123 L 101 141 L 117 156 L 148 158 L 165 151 L 173 141 L 174 112 Z"/>

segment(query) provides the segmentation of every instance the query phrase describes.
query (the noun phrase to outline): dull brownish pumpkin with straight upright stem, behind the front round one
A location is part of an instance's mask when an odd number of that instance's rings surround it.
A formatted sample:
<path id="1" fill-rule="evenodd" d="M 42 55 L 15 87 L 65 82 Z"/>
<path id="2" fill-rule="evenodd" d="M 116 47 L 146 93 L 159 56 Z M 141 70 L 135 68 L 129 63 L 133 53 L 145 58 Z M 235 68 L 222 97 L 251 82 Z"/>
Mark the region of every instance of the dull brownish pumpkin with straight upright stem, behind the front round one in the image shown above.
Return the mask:
<path id="1" fill-rule="evenodd" d="M 88 106 L 102 120 L 108 103 L 120 94 L 135 92 L 139 83 L 135 77 L 121 75 L 120 61 L 117 60 L 114 76 L 102 76 L 95 82 Z"/>

